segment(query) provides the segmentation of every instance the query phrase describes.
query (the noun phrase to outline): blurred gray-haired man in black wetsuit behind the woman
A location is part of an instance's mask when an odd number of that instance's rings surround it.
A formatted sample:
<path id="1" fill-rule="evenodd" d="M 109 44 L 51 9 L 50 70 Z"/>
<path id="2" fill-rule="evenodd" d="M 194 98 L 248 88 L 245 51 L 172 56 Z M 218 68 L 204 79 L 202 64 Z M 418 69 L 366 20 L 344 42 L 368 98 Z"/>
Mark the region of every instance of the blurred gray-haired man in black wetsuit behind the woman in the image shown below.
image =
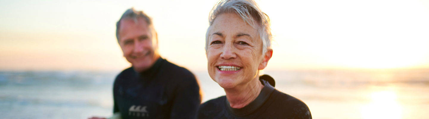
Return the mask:
<path id="1" fill-rule="evenodd" d="M 132 64 L 115 79 L 114 116 L 122 119 L 190 119 L 201 103 L 195 76 L 160 57 L 154 26 L 142 11 L 128 9 L 116 24 L 124 57 Z"/>

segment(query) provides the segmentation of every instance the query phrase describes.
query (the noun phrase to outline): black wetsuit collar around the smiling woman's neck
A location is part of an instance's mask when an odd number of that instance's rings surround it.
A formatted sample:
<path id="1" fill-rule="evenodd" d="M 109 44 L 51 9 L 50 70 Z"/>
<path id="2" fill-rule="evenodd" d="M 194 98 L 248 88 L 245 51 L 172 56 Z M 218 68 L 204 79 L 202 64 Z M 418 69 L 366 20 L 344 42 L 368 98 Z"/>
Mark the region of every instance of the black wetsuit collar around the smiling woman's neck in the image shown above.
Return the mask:
<path id="1" fill-rule="evenodd" d="M 269 75 L 263 75 L 260 76 L 259 80 L 264 85 L 261 92 L 259 93 L 258 97 L 254 101 L 252 101 L 250 104 L 246 105 L 243 108 L 233 108 L 230 107 L 230 102 L 228 99 L 226 99 L 226 107 L 230 111 L 230 113 L 233 113 L 237 116 L 245 116 L 248 114 L 253 113 L 255 110 L 257 110 L 259 107 L 261 107 L 264 102 L 268 99 L 269 95 L 274 91 L 274 87 L 270 85 L 271 82 L 274 82 L 274 79 L 270 77 Z M 269 82 L 270 81 L 270 82 Z"/>

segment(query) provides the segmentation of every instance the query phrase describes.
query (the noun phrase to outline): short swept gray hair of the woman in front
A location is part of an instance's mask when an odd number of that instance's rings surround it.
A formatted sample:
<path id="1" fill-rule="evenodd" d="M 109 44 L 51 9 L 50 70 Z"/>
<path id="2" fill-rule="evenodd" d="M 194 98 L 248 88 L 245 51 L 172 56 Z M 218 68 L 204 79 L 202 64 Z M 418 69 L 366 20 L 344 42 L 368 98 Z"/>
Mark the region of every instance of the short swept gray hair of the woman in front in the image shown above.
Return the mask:
<path id="1" fill-rule="evenodd" d="M 267 48 L 271 48 L 272 41 L 268 15 L 259 9 L 259 6 L 254 0 L 220 0 L 213 9 L 211 9 L 210 15 L 208 16 L 210 27 L 218 15 L 230 12 L 235 12 L 243 21 L 258 30 L 260 39 L 262 40 L 263 54 L 266 53 Z M 207 51 L 208 47 L 208 32 L 210 27 L 208 27 L 205 34 L 205 51 Z"/>

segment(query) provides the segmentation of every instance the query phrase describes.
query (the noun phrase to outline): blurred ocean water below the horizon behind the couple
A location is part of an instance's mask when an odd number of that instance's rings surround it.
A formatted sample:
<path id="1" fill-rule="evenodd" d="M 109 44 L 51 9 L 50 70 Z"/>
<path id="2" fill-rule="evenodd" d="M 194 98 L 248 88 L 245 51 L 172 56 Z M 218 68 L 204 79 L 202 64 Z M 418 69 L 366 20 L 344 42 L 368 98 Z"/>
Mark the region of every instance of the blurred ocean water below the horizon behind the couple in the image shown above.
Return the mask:
<path id="1" fill-rule="evenodd" d="M 0 119 L 87 119 L 112 115 L 120 71 L 0 71 Z M 225 95 L 193 71 L 203 101 Z M 429 69 L 264 71 L 275 88 L 304 101 L 313 119 L 428 119 Z"/>

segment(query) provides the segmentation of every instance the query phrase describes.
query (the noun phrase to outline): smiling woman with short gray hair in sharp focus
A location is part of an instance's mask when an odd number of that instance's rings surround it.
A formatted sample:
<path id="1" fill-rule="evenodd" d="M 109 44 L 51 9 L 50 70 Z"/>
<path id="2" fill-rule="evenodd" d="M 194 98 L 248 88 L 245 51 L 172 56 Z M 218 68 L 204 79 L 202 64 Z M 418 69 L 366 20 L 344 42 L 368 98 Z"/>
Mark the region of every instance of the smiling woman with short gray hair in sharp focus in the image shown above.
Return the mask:
<path id="1" fill-rule="evenodd" d="M 226 96 L 199 107 L 199 119 L 311 119 L 304 102 L 274 89 L 259 76 L 272 57 L 268 16 L 253 0 L 221 0 L 213 7 L 206 33 L 208 74 Z"/>

